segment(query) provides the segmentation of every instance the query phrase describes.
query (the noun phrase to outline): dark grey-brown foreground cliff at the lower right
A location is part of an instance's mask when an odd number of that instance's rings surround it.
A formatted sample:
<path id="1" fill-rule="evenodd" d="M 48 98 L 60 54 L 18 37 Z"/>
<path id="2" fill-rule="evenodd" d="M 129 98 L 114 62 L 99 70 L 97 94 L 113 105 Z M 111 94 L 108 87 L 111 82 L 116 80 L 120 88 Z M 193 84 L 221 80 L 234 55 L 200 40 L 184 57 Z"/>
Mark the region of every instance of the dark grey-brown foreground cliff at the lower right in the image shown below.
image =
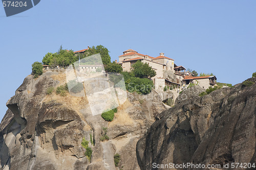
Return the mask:
<path id="1" fill-rule="evenodd" d="M 256 78 L 248 81 L 256 82 Z M 160 113 L 138 141 L 141 169 L 165 169 L 153 168 L 153 163 L 229 163 L 229 169 L 233 162 L 256 163 L 256 83 L 218 89 L 178 103 Z"/>

